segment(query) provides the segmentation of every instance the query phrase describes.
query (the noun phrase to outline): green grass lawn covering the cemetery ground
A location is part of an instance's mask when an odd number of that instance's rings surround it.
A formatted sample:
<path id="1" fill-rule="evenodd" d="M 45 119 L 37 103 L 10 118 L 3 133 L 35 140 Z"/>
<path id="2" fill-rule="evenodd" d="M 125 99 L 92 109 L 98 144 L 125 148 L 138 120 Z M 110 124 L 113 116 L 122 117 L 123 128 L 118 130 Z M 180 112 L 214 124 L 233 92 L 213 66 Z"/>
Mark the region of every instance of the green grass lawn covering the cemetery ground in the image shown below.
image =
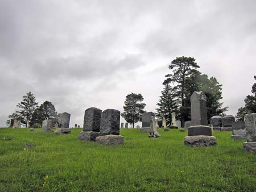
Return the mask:
<path id="1" fill-rule="evenodd" d="M 122 129 L 125 145 L 113 147 L 80 141 L 80 131 L 1 128 L 0 191 L 256 191 L 256 155 L 231 132 L 214 132 L 216 147 L 191 148 L 178 130 L 148 139 Z"/>

